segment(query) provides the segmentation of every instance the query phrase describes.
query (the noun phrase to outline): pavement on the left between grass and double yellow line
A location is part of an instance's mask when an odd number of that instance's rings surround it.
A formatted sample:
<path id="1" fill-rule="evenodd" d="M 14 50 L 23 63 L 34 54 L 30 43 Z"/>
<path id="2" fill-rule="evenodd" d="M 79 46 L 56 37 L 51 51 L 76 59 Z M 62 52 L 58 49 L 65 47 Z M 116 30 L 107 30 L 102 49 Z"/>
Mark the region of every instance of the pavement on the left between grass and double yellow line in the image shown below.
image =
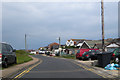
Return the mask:
<path id="1" fill-rule="evenodd" d="M 32 56 L 30 56 L 30 57 L 32 57 Z M 0 71 L 1 72 L 0 77 L 9 78 L 11 75 L 18 73 L 22 69 L 26 69 L 28 66 L 39 61 L 39 59 L 35 58 L 35 57 L 32 57 L 32 59 L 33 59 L 32 61 L 29 61 L 29 62 L 26 62 L 23 64 L 19 64 L 19 65 L 15 65 L 15 66 L 11 66 L 11 67 L 8 67 L 8 68 Z"/>

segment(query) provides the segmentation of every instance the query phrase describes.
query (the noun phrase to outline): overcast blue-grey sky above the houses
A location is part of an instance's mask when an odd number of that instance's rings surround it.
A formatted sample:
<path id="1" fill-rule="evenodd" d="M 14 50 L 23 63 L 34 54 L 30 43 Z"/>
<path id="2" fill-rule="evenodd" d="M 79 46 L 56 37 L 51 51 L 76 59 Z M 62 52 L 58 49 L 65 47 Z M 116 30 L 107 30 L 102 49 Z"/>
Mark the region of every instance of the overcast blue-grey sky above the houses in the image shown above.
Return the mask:
<path id="1" fill-rule="evenodd" d="M 118 3 L 104 3 L 105 38 L 118 37 Z M 100 2 L 5 2 L 2 41 L 15 49 L 38 49 L 68 39 L 101 39 Z"/>

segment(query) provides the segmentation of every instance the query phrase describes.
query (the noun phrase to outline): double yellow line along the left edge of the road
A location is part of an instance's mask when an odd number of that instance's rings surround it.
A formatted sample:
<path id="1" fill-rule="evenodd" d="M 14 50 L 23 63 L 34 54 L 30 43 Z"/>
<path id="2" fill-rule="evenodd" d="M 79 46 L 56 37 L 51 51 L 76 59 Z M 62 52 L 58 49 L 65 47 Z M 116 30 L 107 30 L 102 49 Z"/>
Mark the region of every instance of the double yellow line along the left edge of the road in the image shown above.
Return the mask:
<path id="1" fill-rule="evenodd" d="M 42 63 L 42 60 L 40 59 L 40 62 L 33 65 L 32 67 L 29 67 L 28 69 L 24 70 L 23 72 L 21 72 L 20 74 L 18 74 L 17 76 L 15 76 L 12 80 L 15 80 L 15 79 L 19 79 L 21 78 L 22 76 L 24 76 L 26 73 L 28 73 L 30 70 L 32 70 L 34 67 L 38 66 L 39 64 Z"/>

